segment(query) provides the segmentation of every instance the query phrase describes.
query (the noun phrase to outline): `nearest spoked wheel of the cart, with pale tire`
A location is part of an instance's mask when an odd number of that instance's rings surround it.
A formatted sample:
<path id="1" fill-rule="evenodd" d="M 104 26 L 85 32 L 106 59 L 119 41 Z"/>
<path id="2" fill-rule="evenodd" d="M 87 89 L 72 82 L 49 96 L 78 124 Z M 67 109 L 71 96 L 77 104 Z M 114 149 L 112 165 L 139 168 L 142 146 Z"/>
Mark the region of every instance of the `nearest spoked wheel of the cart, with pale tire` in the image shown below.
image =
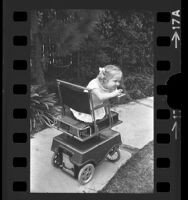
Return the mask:
<path id="1" fill-rule="evenodd" d="M 81 184 L 81 185 L 84 185 L 86 183 L 88 183 L 93 175 L 94 175 L 94 172 L 95 172 L 95 167 L 93 164 L 89 163 L 89 164 L 86 164 L 84 167 L 81 168 L 81 170 L 79 171 L 79 174 L 78 174 L 78 182 Z"/>

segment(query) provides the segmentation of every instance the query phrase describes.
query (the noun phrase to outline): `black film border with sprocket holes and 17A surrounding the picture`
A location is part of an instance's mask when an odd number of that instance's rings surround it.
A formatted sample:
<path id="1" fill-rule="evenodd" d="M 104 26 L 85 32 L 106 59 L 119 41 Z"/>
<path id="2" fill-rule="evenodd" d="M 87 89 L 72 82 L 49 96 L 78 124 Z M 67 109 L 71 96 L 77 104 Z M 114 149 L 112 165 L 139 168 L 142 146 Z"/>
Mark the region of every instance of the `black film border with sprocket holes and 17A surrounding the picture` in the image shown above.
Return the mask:
<path id="1" fill-rule="evenodd" d="M 180 199 L 181 108 L 179 106 L 170 107 L 167 98 L 168 90 L 170 90 L 170 77 L 174 79 L 174 76 L 181 72 L 181 2 L 178 0 L 144 1 L 144 3 L 132 1 L 116 5 L 109 4 L 109 2 L 107 4 L 104 2 L 103 5 L 54 1 L 53 3 L 50 1 L 37 3 L 37 1 L 23 0 L 3 2 L 2 165 L 4 199 L 61 199 L 62 195 L 64 195 L 63 198 L 69 197 L 69 194 L 32 194 L 29 191 L 30 10 L 63 6 L 65 8 L 106 8 L 106 5 L 110 8 L 148 9 L 155 13 L 154 193 L 113 195 L 116 195 L 117 199 L 125 197 L 140 199 L 142 196 L 146 200 Z M 175 33 L 179 34 L 179 39 L 173 38 Z M 176 45 L 178 45 L 177 48 Z M 91 194 L 75 195 L 75 198 L 96 198 Z M 97 198 L 113 198 L 110 194 L 96 195 Z"/>

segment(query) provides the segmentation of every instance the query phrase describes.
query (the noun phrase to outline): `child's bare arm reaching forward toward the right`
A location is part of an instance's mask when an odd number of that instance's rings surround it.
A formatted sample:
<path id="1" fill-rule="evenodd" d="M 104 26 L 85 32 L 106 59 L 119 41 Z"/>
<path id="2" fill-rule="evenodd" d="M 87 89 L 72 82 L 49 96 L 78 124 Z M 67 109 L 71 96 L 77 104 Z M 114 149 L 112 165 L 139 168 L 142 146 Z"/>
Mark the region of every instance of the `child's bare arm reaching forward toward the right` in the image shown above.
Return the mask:
<path id="1" fill-rule="evenodd" d="M 100 89 L 94 89 L 92 92 L 101 100 L 105 101 L 107 99 L 119 96 L 122 92 L 122 89 L 114 90 L 113 92 L 101 92 Z"/>

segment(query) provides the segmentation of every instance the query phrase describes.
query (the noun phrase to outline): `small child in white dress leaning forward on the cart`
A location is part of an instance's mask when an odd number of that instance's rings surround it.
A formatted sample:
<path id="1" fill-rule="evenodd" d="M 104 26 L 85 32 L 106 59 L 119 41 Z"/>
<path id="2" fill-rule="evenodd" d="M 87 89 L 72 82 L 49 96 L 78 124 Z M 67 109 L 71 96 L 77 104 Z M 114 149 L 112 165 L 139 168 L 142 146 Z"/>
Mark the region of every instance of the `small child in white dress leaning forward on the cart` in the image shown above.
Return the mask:
<path id="1" fill-rule="evenodd" d="M 87 85 L 88 89 L 92 90 L 92 98 L 94 107 L 103 104 L 104 101 L 119 96 L 122 89 L 117 89 L 120 86 L 123 73 L 121 69 L 115 65 L 106 65 L 104 68 L 99 68 L 98 76 L 91 80 Z M 80 113 L 70 109 L 77 119 L 91 123 L 92 116 L 86 113 Z M 104 107 L 94 111 L 95 119 L 102 119 L 105 116 Z"/>

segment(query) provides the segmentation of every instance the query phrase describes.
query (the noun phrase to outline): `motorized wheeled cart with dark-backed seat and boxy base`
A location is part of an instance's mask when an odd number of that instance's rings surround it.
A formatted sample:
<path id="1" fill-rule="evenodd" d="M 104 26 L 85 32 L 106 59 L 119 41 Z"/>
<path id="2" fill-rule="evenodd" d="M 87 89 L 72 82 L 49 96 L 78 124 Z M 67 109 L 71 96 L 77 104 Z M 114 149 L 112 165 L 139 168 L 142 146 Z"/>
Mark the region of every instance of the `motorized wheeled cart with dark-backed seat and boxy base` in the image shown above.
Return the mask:
<path id="1" fill-rule="evenodd" d="M 118 119 L 118 113 L 110 111 L 108 102 L 94 107 L 92 93 L 88 88 L 62 80 L 57 80 L 57 85 L 64 112 L 56 118 L 55 127 L 62 134 L 53 138 L 52 165 L 78 179 L 80 184 L 86 184 L 101 161 L 119 160 L 121 136 L 111 128 L 122 121 Z M 105 108 L 106 116 L 96 120 L 94 110 L 100 107 Z M 67 108 L 90 114 L 93 123 L 77 120 Z"/>

